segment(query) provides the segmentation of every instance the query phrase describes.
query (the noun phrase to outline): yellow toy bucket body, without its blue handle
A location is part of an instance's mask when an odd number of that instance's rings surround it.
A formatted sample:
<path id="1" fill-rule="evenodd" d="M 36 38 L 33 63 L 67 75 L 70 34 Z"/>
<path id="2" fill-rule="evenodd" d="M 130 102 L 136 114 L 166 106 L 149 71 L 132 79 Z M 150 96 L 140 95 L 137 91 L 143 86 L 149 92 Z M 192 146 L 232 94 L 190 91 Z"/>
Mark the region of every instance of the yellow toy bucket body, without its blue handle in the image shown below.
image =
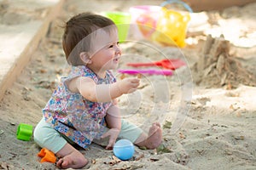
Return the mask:
<path id="1" fill-rule="evenodd" d="M 152 40 L 164 45 L 184 47 L 189 20 L 189 13 L 182 14 L 163 7 Z"/>

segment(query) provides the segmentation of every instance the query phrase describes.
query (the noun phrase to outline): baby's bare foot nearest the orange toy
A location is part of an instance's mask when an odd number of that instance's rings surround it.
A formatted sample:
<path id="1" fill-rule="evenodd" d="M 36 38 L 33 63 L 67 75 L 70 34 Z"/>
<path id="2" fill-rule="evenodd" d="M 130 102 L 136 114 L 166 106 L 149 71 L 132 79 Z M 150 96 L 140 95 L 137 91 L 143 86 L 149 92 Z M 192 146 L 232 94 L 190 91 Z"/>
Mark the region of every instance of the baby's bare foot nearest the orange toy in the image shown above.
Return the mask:
<path id="1" fill-rule="evenodd" d="M 69 167 L 84 167 L 88 163 L 88 160 L 83 156 L 83 154 L 68 143 L 56 153 L 56 156 L 61 157 L 61 159 L 56 162 L 56 166 L 65 169 Z"/>

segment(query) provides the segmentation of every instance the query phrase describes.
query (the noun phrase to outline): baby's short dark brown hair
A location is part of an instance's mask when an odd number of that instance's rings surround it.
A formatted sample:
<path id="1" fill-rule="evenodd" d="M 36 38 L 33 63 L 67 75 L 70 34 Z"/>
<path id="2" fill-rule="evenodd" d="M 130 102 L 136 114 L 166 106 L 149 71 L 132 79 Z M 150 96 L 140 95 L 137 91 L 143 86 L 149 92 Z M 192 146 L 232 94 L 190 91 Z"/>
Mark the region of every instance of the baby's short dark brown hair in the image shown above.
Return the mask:
<path id="1" fill-rule="evenodd" d="M 89 12 L 77 14 L 68 20 L 62 37 L 62 48 L 67 62 L 71 65 L 83 65 L 79 54 L 90 50 L 90 41 L 87 39 L 83 42 L 83 38 L 97 29 L 113 25 L 113 20 Z M 81 44 L 77 47 L 79 43 Z"/>

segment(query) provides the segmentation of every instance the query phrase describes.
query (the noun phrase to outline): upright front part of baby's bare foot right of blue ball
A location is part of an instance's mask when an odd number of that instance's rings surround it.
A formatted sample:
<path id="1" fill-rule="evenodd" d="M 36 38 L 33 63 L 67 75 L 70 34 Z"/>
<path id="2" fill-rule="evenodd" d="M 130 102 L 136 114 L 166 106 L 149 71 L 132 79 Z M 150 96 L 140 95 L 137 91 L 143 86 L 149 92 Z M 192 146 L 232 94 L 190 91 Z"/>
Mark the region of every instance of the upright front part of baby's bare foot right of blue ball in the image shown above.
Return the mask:
<path id="1" fill-rule="evenodd" d="M 145 146 L 149 150 L 154 150 L 162 142 L 162 130 L 159 122 L 154 122 L 152 127 L 149 128 L 148 139 L 145 141 Z"/>

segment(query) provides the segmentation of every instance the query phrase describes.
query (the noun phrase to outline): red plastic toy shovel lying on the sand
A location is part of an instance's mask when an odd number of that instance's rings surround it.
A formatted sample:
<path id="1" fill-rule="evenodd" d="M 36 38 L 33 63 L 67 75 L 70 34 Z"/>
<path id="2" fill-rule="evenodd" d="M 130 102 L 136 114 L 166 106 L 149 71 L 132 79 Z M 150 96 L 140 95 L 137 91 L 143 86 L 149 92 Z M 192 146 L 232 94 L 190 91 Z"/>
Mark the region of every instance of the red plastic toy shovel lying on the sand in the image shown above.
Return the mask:
<path id="1" fill-rule="evenodd" d="M 181 59 L 161 59 L 152 63 L 128 63 L 128 66 L 139 67 L 139 66 L 161 66 L 166 69 L 175 70 L 183 65 L 186 65 Z"/>

